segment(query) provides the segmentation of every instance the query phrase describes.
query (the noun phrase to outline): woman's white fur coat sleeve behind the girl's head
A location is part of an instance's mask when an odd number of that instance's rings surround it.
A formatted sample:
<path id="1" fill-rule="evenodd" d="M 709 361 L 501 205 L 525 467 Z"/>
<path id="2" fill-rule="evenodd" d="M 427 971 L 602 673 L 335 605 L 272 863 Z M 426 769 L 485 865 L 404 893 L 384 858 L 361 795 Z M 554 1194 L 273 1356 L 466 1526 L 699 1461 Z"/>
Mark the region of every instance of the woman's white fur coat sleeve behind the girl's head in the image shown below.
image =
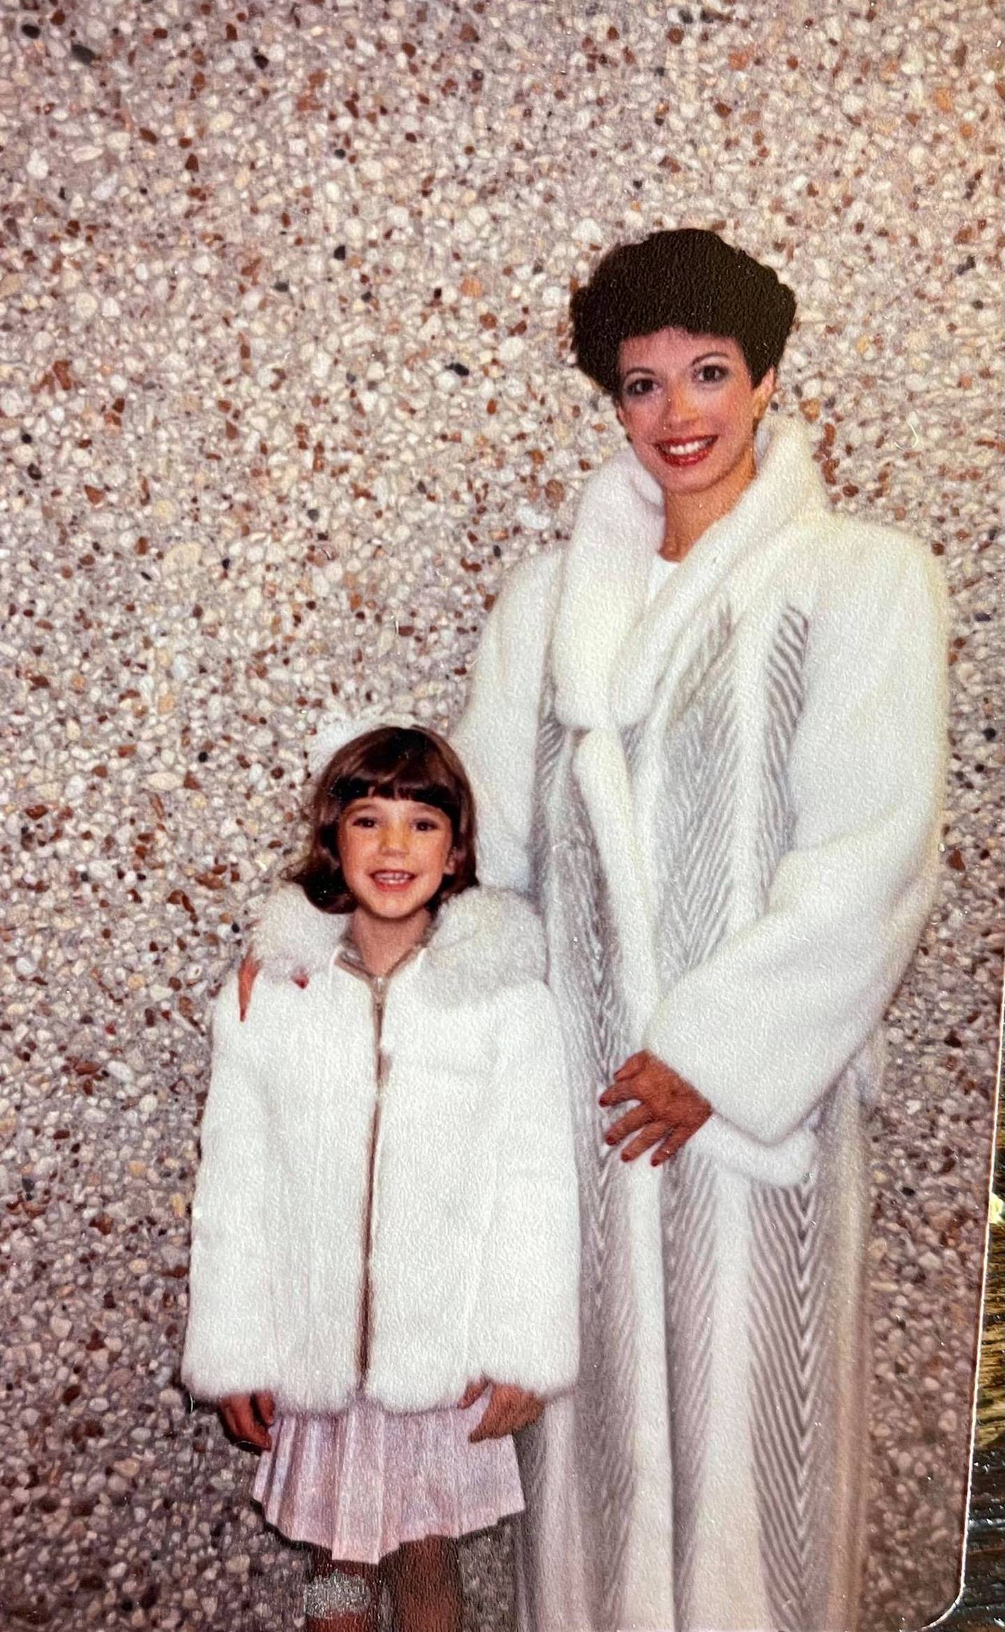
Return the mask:
<path id="1" fill-rule="evenodd" d="M 561 558 L 535 555 L 509 574 L 489 612 L 468 702 L 452 743 L 475 788 L 478 871 L 530 888 L 538 702 Z"/>

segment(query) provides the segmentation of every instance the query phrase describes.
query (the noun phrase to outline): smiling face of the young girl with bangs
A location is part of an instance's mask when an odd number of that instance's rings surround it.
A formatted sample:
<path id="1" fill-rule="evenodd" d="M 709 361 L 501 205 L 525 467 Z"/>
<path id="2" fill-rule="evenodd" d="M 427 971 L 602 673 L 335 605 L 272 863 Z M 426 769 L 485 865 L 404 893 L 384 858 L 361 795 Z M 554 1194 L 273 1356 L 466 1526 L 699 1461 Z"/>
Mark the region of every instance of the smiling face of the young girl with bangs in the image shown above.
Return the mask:
<path id="1" fill-rule="evenodd" d="M 354 800 L 339 816 L 346 888 L 370 917 L 401 922 L 432 901 L 454 865 L 450 818 L 414 800 Z"/>

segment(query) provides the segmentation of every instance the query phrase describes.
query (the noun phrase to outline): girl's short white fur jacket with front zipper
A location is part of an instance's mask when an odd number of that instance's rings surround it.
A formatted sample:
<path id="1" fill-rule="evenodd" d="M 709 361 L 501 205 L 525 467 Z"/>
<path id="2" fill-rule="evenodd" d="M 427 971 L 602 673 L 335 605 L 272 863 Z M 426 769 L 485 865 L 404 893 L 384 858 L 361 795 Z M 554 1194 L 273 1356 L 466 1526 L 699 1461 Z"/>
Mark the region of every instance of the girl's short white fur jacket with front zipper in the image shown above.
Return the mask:
<path id="1" fill-rule="evenodd" d="M 558 1394 L 578 1366 L 579 1224 L 538 920 L 501 889 L 441 909 L 388 981 L 380 1090 L 369 984 L 336 961 L 346 924 L 282 886 L 246 1018 L 235 976 L 217 999 L 183 1379 L 318 1413 L 357 1390 L 452 1405 L 476 1377 Z"/>

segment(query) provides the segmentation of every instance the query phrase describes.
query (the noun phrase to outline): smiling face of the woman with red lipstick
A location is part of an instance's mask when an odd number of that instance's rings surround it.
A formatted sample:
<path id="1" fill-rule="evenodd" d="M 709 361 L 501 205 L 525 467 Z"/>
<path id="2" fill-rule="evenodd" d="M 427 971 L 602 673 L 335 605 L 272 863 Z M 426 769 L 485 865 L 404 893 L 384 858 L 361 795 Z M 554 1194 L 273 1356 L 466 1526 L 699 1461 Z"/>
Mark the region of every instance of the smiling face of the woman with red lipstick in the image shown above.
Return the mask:
<path id="1" fill-rule="evenodd" d="M 618 419 L 666 498 L 703 496 L 724 514 L 754 477 L 754 426 L 775 370 L 752 385 L 734 339 L 684 328 L 622 341 L 618 369 Z"/>

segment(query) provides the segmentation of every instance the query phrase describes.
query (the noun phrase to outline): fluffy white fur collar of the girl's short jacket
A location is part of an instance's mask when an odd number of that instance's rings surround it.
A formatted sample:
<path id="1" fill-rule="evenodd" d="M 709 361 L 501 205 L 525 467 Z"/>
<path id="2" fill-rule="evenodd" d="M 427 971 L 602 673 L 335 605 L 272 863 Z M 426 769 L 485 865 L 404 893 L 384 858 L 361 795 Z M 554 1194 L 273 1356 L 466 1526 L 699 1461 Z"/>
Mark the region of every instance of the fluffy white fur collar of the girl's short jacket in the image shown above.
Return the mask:
<path id="1" fill-rule="evenodd" d="M 321 912 L 299 885 L 281 885 L 261 906 L 255 956 L 276 978 L 318 974 L 331 966 L 348 927 L 346 914 Z M 473 886 L 441 907 L 416 961 L 434 1000 L 465 1002 L 499 986 L 543 979 L 545 937 L 522 896 Z"/>

